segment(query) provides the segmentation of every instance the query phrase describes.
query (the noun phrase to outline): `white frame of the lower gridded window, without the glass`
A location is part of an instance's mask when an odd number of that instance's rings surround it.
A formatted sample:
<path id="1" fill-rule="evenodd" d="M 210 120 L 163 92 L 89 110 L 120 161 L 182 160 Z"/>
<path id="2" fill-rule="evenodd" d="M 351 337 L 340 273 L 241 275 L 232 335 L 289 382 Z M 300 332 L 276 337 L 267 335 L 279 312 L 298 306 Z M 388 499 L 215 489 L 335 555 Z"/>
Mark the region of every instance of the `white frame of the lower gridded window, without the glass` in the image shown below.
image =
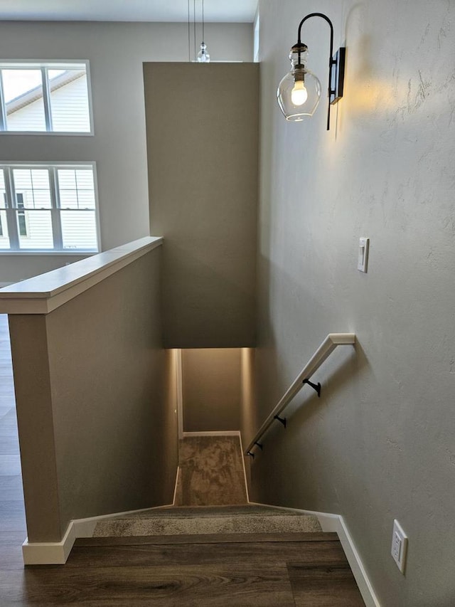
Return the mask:
<path id="1" fill-rule="evenodd" d="M 93 190 L 95 194 L 95 227 L 97 234 L 96 249 L 63 248 L 62 229 L 60 220 L 60 192 L 56 186 L 55 174 L 58 169 L 92 169 Z M 100 211 L 98 204 L 98 184 L 95 162 L 0 162 L 0 170 L 4 170 L 6 186 L 6 224 L 8 227 L 9 248 L 0 249 L 1 255 L 96 255 L 100 253 Z M 51 207 L 47 209 L 52 217 L 53 248 L 21 248 L 18 222 L 16 221 L 17 205 L 16 191 L 12 183 L 14 169 L 48 169 Z M 4 230 L 5 232 L 5 230 Z M 24 238 L 24 237 L 22 237 Z"/>

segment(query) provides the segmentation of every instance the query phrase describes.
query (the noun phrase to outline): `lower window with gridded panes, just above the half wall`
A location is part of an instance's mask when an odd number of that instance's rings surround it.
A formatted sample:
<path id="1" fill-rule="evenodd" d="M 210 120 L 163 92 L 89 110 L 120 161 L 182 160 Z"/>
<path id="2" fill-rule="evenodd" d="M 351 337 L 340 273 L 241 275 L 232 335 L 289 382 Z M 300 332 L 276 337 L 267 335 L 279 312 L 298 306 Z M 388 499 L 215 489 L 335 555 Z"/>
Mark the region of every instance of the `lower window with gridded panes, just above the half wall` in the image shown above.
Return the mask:
<path id="1" fill-rule="evenodd" d="M 0 250 L 98 250 L 92 164 L 0 164 Z"/>

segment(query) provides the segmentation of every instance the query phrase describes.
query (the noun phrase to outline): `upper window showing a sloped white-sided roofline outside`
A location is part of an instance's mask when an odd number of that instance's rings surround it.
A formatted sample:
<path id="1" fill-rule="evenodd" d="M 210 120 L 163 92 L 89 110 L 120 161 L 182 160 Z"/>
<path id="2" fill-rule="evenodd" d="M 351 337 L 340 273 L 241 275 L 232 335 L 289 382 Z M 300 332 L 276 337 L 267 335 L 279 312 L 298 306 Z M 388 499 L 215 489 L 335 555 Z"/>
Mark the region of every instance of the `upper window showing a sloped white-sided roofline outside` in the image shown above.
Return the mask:
<path id="1" fill-rule="evenodd" d="M 0 62 L 0 131 L 92 133 L 87 75 L 87 62 Z"/>

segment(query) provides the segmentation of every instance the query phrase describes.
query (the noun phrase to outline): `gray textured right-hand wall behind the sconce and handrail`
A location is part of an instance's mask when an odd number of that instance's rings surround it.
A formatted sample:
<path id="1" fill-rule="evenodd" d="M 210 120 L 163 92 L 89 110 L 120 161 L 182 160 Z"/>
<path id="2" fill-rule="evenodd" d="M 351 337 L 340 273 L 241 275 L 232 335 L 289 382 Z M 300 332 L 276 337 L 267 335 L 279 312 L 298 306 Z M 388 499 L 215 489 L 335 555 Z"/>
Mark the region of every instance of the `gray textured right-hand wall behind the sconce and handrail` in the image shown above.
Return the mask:
<path id="1" fill-rule="evenodd" d="M 287 123 L 276 104 L 302 17 L 346 41 L 345 96 Z M 328 332 L 352 331 L 252 463 L 257 500 L 343 514 L 383 607 L 449 607 L 455 579 L 453 1 L 259 1 L 262 418 Z M 304 24 L 326 87 L 329 31 Z M 370 237 L 367 274 L 358 239 Z M 298 399 L 298 400 L 299 400 Z M 278 425 L 277 425 L 278 426 Z M 406 575 L 390 556 L 409 536 Z"/>

